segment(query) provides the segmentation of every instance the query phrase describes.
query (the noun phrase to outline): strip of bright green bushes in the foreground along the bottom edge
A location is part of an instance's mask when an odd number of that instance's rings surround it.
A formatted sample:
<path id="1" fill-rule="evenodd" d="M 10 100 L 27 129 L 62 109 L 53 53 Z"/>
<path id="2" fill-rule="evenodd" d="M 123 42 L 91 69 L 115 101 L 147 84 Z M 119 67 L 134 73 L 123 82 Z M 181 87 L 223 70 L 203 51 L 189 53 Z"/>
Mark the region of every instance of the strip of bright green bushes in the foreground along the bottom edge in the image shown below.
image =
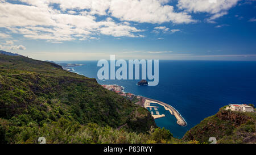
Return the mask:
<path id="1" fill-rule="evenodd" d="M 4 123 L 4 120 L 0 120 Z M 5 121 L 5 123 L 7 123 Z M 88 123 L 80 125 L 79 123 L 70 122 L 67 119 L 61 118 L 57 122 L 44 123 L 42 127 L 30 123 L 27 126 L 16 127 L 13 124 L 5 124 L 9 129 L 2 129 L 1 133 L 5 133 L 5 137 L 1 139 L 1 143 L 38 143 L 38 137 L 43 136 L 46 138 L 47 143 L 55 144 L 78 144 L 78 143 L 110 143 L 110 144 L 138 144 L 138 143 L 171 143 L 171 141 L 179 141 L 170 136 L 170 131 L 166 129 L 159 129 L 164 133 L 155 132 L 151 136 L 148 133 L 129 132 L 126 129 L 114 129 L 109 126 L 101 127 L 95 123 Z M 158 129 L 158 128 L 157 128 Z M 3 136 L 3 134 L 1 134 Z M 164 140 L 156 141 L 160 136 Z"/>

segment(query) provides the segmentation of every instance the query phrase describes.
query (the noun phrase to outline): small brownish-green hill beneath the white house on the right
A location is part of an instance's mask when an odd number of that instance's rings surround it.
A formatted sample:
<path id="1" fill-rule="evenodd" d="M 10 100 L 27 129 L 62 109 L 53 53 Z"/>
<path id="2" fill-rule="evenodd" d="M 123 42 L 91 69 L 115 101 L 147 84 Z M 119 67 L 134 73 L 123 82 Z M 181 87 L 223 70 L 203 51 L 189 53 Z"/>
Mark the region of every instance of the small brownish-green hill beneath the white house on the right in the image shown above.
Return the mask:
<path id="1" fill-rule="evenodd" d="M 224 110 L 205 118 L 191 128 L 183 141 L 196 140 L 208 143 L 209 137 L 216 137 L 217 143 L 256 143 L 256 113 Z"/>

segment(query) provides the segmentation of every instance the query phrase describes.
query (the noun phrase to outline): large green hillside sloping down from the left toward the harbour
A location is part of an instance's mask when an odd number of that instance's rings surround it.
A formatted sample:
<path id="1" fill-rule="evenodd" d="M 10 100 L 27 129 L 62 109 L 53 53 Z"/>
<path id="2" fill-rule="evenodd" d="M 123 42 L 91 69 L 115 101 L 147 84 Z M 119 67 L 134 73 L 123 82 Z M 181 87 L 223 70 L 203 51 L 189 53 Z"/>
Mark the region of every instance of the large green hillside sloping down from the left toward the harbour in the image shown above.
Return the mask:
<path id="1" fill-rule="evenodd" d="M 61 134 L 68 137 L 70 130 L 73 139 L 86 127 L 88 132 L 95 128 L 119 132 L 122 127 L 127 134 L 144 134 L 156 127 L 146 109 L 104 89 L 94 78 L 51 62 L 0 54 L 0 88 L 1 143 L 37 143 L 36 137 L 51 134 L 55 136 L 48 139 L 61 143 Z M 67 139 L 65 143 L 71 143 Z M 93 142 L 86 139 L 84 143 Z"/>

